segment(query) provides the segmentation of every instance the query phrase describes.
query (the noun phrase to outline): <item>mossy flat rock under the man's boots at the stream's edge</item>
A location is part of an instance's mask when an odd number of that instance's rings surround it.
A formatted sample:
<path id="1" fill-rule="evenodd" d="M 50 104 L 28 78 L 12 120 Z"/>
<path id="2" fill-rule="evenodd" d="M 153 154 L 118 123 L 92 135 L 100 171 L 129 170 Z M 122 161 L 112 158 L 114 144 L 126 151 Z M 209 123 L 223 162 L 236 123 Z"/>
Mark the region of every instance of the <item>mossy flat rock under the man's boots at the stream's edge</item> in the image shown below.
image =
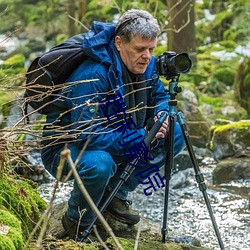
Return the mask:
<path id="1" fill-rule="evenodd" d="M 46 245 L 46 241 L 50 242 L 50 244 L 53 244 L 53 246 L 56 246 L 57 244 L 61 245 L 67 245 L 68 248 L 60 248 L 60 249 L 70 249 L 69 248 L 69 242 L 71 242 L 71 247 L 75 245 L 76 247 L 81 244 L 85 243 L 76 243 L 73 241 L 65 239 L 57 239 L 57 235 L 62 235 L 63 227 L 61 224 L 61 217 L 65 213 L 67 208 L 67 204 L 60 203 L 57 205 L 54 205 L 51 213 L 51 220 L 47 229 L 47 236 L 44 239 L 44 243 Z M 126 224 L 120 223 L 119 221 L 116 221 L 112 217 L 105 215 L 105 219 L 112 228 L 114 234 L 116 237 L 118 237 L 119 242 L 122 244 L 124 249 L 132 250 L 134 249 L 135 239 L 138 235 L 138 231 L 140 232 L 139 235 L 139 249 L 143 250 L 174 250 L 174 249 L 180 249 L 180 250 L 209 250 L 208 248 L 204 248 L 200 246 L 199 240 L 193 237 L 186 237 L 186 236 L 180 236 L 180 235 L 174 235 L 173 232 L 169 233 L 169 237 L 167 237 L 166 243 L 162 243 L 162 236 L 161 236 L 161 229 L 154 224 L 150 223 L 149 220 L 141 219 L 140 223 L 138 223 L 135 226 L 128 226 Z M 98 226 L 99 229 L 102 228 Z M 101 230 L 104 230 L 103 228 Z M 102 233 L 103 235 L 103 233 Z M 106 235 L 108 237 L 108 235 Z M 62 240 L 64 244 L 62 243 Z M 114 248 L 114 242 L 112 238 L 104 239 L 106 240 L 106 244 L 110 247 L 109 249 L 116 249 Z M 52 243 L 53 242 L 53 243 Z M 48 244 L 47 244 L 48 245 Z M 93 245 L 91 248 L 91 245 Z M 84 249 L 86 247 L 86 244 L 84 245 Z M 96 247 L 96 248 L 94 248 Z M 55 248 L 57 249 L 57 248 Z M 73 248 L 72 248 L 73 249 Z M 77 248 L 78 249 L 78 248 Z M 100 244 L 98 243 L 91 243 L 88 244 L 86 249 L 103 249 L 100 247 Z"/>

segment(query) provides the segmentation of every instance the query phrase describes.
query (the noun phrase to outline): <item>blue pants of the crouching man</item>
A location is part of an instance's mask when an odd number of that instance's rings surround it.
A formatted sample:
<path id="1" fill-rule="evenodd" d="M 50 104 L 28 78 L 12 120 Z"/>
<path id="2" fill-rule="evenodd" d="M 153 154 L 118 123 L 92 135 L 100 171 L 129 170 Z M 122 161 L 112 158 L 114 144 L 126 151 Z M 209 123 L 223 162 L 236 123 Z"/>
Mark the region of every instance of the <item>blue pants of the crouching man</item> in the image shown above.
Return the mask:
<path id="1" fill-rule="evenodd" d="M 146 172 L 140 175 L 140 172 L 142 172 L 143 169 L 149 169 L 152 167 L 151 169 L 153 170 L 153 168 L 155 168 L 156 162 L 159 168 L 164 166 L 166 155 L 164 139 L 158 139 L 158 142 L 155 144 L 155 147 L 150 151 L 150 157 L 154 160 L 148 162 L 147 164 L 138 162 L 137 165 L 139 167 L 136 167 L 128 180 L 123 183 L 116 197 L 125 200 L 128 192 L 135 190 L 139 185 L 138 179 L 143 181 L 148 178 Z M 180 153 L 184 147 L 185 142 L 181 128 L 178 123 L 175 123 L 174 154 L 177 155 Z M 68 148 L 71 151 L 71 157 L 73 161 L 75 161 L 80 154 L 81 149 L 78 148 L 74 143 L 69 144 Z M 56 176 L 61 150 L 62 149 L 54 150 L 53 147 L 50 147 L 42 151 L 42 160 L 44 166 L 54 177 Z M 159 155 L 163 155 L 164 157 L 159 158 Z M 82 154 L 77 164 L 77 171 L 85 188 L 89 192 L 89 195 L 92 197 L 96 205 L 100 203 L 105 189 L 111 191 L 119 182 L 120 175 L 128 162 L 130 162 L 128 157 L 111 155 L 110 153 L 101 150 L 85 151 Z M 67 175 L 69 170 L 70 167 L 66 163 L 63 169 L 63 175 Z M 74 188 L 68 201 L 68 216 L 78 221 L 80 218 L 80 212 L 83 209 L 86 209 L 86 212 L 81 219 L 81 225 L 88 226 L 93 220 L 94 213 L 84 199 L 77 183 L 74 182 Z"/>

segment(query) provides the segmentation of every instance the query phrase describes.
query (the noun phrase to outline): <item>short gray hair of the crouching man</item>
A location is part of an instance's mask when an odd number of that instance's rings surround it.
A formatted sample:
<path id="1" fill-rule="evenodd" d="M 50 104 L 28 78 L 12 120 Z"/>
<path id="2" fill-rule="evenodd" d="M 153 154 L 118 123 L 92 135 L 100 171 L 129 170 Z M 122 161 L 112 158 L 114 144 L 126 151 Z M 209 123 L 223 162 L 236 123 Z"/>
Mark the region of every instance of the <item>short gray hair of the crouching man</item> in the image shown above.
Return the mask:
<path id="1" fill-rule="evenodd" d="M 116 36 L 128 43 L 135 35 L 153 40 L 160 34 L 157 20 L 145 10 L 128 10 L 118 20 Z"/>

